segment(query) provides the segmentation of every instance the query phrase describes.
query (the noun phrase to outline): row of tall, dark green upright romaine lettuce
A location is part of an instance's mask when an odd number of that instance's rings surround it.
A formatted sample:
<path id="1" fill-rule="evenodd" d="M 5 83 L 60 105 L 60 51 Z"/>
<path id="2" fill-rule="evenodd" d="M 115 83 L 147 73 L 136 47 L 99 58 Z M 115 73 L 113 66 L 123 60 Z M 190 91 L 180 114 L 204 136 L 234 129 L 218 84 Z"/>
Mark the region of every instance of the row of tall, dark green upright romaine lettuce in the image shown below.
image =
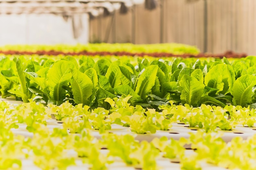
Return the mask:
<path id="1" fill-rule="evenodd" d="M 105 99 L 130 97 L 148 108 L 173 101 L 200 106 L 256 103 L 256 57 L 239 60 L 152 57 L 1 57 L 3 98 L 44 104 L 69 101 L 110 108 Z"/>

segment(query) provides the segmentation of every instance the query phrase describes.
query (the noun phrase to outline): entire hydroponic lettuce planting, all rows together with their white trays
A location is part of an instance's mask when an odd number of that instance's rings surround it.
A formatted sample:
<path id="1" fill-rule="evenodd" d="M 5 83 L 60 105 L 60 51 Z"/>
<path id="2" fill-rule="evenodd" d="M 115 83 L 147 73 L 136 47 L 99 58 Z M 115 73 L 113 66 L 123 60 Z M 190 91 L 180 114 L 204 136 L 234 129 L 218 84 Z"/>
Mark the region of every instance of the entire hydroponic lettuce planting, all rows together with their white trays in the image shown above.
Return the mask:
<path id="1" fill-rule="evenodd" d="M 184 44 L 0 51 L 0 169 L 256 169 L 255 56 Z"/>

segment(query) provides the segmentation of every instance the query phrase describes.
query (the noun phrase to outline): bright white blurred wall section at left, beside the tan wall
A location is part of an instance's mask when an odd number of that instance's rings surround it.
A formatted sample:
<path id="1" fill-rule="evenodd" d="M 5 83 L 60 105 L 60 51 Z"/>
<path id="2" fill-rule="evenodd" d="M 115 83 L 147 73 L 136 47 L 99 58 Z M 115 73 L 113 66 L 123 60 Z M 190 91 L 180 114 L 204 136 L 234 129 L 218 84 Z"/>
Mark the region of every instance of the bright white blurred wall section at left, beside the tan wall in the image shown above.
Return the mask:
<path id="1" fill-rule="evenodd" d="M 88 43 L 87 14 L 0 15 L 0 23 L 0 45 Z"/>

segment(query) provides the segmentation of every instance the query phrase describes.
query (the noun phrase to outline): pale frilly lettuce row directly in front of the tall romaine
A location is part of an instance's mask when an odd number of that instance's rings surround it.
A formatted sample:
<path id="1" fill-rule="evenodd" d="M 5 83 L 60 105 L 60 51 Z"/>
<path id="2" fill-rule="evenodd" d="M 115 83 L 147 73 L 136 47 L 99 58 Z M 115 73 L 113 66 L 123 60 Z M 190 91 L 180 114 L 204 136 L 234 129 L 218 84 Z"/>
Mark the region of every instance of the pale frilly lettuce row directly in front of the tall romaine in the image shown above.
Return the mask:
<path id="1" fill-rule="evenodd" d="M 119 125 L 126 132 L 137 134 L 152 134 L 157 130 L 173 130 L 174 123 L 189 125 L 193 130 L 203 130 L 204 132 L 216 132 L 221 130 L 232 130 L 238 125 L 253 127 L 256 123 L 256 109 L 241 106 L 210 106 L 202 104 L 193 108 L 188 104 L 182 105 L 162 105 L 160 111 L 150 108 L 130 106 L 126 98 L 107 98 L 105 101 L 111 105 L 109 110 L 102 107 L 91 109 L 90 106 L 78 104 L 73 106 L 65 102 L 60 106 L 48 104 L 36 104 L 36 102 L 24 103 L 14 110 L 5 102 L 1 102 L 1 109 L 6 117 L 2 120 L 5 128 L 18 128 L 18 124 L 25 123 L 29 132 L 35 132 L 38 123 L 46 125 L 46 119 L 54 116 L 62 121 L 63 128 L 70 133 L 80 133 L 84 129 L 98 130 L 104 133 L 111 130 L 112 125 Z M 13 115 L 13 116 L 8 116 Z"/>

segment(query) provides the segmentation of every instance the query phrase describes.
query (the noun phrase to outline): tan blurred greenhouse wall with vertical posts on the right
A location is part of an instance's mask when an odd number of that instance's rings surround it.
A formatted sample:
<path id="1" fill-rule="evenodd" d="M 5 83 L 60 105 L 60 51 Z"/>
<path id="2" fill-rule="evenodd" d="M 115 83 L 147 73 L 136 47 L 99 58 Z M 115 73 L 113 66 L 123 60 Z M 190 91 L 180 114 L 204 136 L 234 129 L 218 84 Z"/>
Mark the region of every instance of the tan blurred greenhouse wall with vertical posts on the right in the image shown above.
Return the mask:
<path id="1" fill-rule="evenodd" d="M 256 54 L 255 0 L 160 0 L 90 20 L 90 42 L 178 42 L 203 52 Z"/>

